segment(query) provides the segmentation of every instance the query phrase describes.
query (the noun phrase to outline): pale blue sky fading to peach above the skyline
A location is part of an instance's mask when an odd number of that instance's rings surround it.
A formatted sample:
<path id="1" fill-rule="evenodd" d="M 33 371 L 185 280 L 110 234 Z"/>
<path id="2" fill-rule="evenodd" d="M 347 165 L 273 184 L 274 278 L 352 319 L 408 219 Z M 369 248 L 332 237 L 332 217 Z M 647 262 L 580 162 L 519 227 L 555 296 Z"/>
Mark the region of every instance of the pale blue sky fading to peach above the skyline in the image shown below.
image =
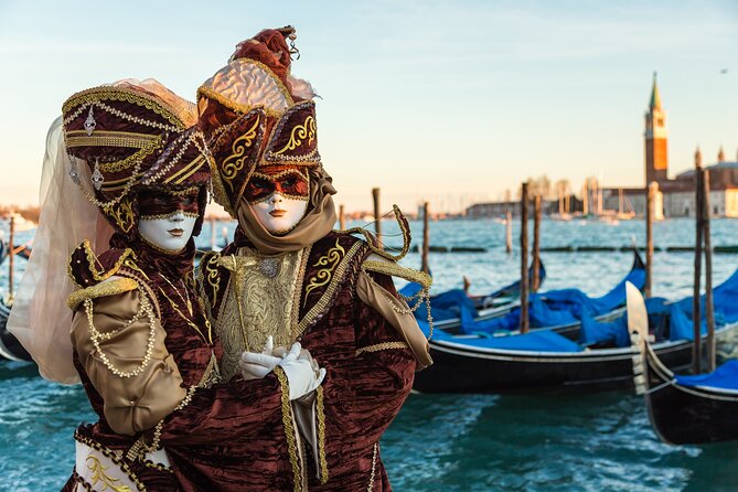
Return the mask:
<path id="1" fill-rule="evenodd" d="M 643 185 L 657 72 L 670 174 L 738 157 L 735 0 L 0 0 L 0 204 L 35 204 L 76 92 L 153 77 L 193 100 L 234 46 L 292 24 L 336 203 L 458 211 L 528 177 Z"/>

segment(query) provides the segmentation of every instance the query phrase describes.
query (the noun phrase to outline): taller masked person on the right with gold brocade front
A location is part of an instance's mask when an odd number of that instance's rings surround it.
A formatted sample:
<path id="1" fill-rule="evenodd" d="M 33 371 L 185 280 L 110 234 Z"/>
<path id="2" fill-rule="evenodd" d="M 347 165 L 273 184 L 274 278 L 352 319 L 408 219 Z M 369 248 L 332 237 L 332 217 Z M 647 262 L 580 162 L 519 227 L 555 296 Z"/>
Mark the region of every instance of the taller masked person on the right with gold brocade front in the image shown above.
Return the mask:
<path id="1" fill-rule="evenodd" d="M 429 278 L 397 265 L 365 231 L 333 231 L 335 190 L 318 153 L 314 94 L 290 74 L 293 38 L 291 28 L 260 32 L 199 89 L 215 199 L 238 228 L 231 245 L 203 258 L 197 282 L 223 343 L 224 381 L 269 377 L 296 341 L 327 370 L 317 392 L 291 405 L 303 446 L 279 457 L 292 466 L 290 490 L 387 491 L 379 438 L 415 371 L 431 363 L 391 276 L 424 282 L 425 292 Z M 396 215 L 407 247 L 407 222 Z"/>

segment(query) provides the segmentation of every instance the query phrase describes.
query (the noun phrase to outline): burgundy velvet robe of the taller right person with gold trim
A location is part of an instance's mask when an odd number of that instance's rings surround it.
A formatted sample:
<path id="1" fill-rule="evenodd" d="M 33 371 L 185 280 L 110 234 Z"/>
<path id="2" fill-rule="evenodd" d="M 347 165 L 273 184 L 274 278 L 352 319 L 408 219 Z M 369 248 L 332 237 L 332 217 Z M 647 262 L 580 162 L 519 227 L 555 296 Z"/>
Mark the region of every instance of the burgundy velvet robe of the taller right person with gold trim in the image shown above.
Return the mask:
<path id="1" fill-rule="evenodd" d="M 347 234 L 330 233 L 310 247 L 307 260 L 310 267 L 303 276 L 304 284 L 317 270 L 314 265 L 318 258 L 325 255 L 336 244 L 336 239 L 345 252 L 355 248 L 351 258 L 342 258 L 347 268 L 336 284 L 336 289 L 332 295 L 325 288 L 313 289 L 307 295 L 307 299 L 303 293 L 300 302 L 300 321 L 310 311 L 313 315 L 310 315 L 310 322 L 298 340 L 320 366 L 327 368 L 321 386 L 324 397 L 328 481 L 320 483 L 315 477 L 315 463 L 309 459 L 309 490 L 365 491 L 370 489 L 371 478 L 374 477 L 371 490 L 388 491 L 392 490 L 389 481 L 379 459 L 378 448 L 376 457 L 374 456 L 374 447 L 378 446 L 382 434 L 395 418 L 413 387 L 416 361 L 407 347 L 357 354 L 362 347 L 399 341 L 397 331 L 378 312 L 362 302 L 354 290 L 361 264 L 372 253 L 366 243 Z M 201 261 L 204 276 L 212 271 L 208 265 L 215 265 L 218 258 L 235 254 L 244 245 L 248 245 L 248 240 L 237 233 L 234 244 L 221 253 L 206 255 Z M 334 270 L 336 269 L 338 266 Z M 217 291 L 224 292 L 228 288 L 231 272 L 224 268 L 217 268 L 216 271 Z M 371 275 L 384 288 L 395 292 L 391 277 Z M 211 302 L 211 313 L 217 312 L 222 297 L 214 293 L 213 284 L 203 281 L 202 287 Z M 306 291 L 304 285 L 298 288 Z M 321 299 L 322 308 L 315 311 L 314 307 Z M 325 299 L 328 302 L 324 302 Z M 267 449 L 280 442 L 280 430 L 275 429 L 267 436 Z M 242 439 L 231 441 L 231 446 L 223 449 L 223 453 L 234 459 L 242 457 L 242 466 L 252 462 L 253 457 L 258 457 L 264 451 L 265 449 Z M 220 458 L 211 456 L 211 459 L 213 467 L 217 467 Z M 287 463 L 289 456 L 282 454 L 278 460 Z M 277 482 L 263 489 L 248 488 L 248 483 L 263 474 L 263 470 L 255 467 L 236 468 L 234 473 L 240 474 L 245 490 L 292 490 L 280 488 Z"/>

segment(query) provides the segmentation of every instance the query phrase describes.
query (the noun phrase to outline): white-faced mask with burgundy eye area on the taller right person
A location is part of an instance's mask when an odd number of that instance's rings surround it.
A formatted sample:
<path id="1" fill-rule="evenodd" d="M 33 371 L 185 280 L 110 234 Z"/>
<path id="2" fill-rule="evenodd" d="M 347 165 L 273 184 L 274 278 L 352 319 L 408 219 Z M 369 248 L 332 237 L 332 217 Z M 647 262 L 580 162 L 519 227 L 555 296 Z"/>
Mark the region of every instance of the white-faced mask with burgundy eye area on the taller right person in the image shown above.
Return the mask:
<path id="1" fill-rule="evenodd" d="M 272 234 L 288 233 L 308 208 L 308 170 L 287 165 L 261 168 L 249 179 L 244 197 L 264 228 Z"/>

